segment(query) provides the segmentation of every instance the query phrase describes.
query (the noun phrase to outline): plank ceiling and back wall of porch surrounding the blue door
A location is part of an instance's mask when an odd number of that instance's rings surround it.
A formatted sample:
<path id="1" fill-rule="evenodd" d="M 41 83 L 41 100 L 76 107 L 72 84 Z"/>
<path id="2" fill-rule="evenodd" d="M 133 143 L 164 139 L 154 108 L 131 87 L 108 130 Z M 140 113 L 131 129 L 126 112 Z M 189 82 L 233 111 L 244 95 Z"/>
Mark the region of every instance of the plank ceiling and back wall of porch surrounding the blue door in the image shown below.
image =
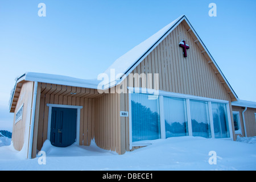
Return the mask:
<path id="1" fill-rule="evenodd" d="M 96 118 L 96 99 L 101 97 L 95 89 L 73 86 L 41 84 L 38 140 L 37 149 L 40 150 L 47 139 L 48 112 L 47 104 L 82 106 L 80 110 L 80 138 L 79 144 L 89 146 L 94 138 L 94 120 Z M 72 94 L 76 93 L 76 94 Z"/>

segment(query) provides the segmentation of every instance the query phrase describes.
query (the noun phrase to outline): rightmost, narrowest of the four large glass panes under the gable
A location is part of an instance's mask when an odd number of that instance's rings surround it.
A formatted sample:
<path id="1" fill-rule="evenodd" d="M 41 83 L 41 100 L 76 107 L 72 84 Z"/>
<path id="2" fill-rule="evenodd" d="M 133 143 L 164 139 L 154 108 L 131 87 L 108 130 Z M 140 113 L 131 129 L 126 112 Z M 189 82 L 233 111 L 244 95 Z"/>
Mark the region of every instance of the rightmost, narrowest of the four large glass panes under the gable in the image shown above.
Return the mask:
<path id="1" fill-rule="evenodd" d="M 229 126 L 226 105 L 212 102 L 212 114 L 215 138 L 228 138 Z"/>

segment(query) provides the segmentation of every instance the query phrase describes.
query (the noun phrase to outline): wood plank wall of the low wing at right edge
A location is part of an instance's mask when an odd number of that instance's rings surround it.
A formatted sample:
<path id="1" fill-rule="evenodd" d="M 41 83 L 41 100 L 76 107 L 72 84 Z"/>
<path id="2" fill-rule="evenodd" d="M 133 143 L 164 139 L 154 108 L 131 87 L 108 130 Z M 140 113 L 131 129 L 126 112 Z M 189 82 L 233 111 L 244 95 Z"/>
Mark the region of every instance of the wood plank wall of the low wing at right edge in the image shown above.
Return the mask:
<path id="1" fill-rule="evenodd" d="M 243 115 L 245 116 L 245 126 L 243 122 L 243 117 L 242 117 L 242 112 L 245 110 L 245 107 L 241 106 L 232 106 L 233 111 L 238 111 L 239 116 L 240 116 L 240 124 L 241 124 L 241 130 L 242 130 L 242 135 L 241 137 L 245 137 L 245 127 L 246 127 L 246 134 L 247 137 L 254 137 L 256 136 L 256 120 L 255 120 L 255 114 L 256 109 L 255 108 L 250 108 L 247 107 L 247 110 Z"/>

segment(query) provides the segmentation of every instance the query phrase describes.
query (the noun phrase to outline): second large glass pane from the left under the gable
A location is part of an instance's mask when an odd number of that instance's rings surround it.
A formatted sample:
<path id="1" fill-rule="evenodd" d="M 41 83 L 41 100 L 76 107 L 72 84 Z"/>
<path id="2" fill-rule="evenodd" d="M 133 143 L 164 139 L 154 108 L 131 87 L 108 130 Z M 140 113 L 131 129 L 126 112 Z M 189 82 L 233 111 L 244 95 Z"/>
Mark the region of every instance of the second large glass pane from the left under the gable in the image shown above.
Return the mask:
<path id="1" fill-rule="evenodd" d="M 166 138 L 188 135 L 186 100 L 163 97 Z"/>

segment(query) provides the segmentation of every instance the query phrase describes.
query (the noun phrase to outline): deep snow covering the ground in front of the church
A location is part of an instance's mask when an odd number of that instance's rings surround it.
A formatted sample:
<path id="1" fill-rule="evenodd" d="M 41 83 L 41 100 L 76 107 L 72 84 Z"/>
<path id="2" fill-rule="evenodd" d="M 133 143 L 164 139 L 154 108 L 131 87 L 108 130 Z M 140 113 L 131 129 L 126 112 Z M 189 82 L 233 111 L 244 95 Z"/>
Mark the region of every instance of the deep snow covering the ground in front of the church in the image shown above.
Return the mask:
<path id="1" fill-rule="evenodd" d="M 248 142 L 256 138 L 238 140 L 241 142 L 201 137 L 159 139 L 124 155 L 103 150 L 93 141 L 90 146 L 57 148 L 47 140 L 42 148 L 46 158 L 40 155 L 35 159 L 20 159 L 20 152 L 10 144 L 0 147 L 0 170 L 256 170 L 256 144 Z M 44 161 L 46 164 L 39 164 Z"/>

